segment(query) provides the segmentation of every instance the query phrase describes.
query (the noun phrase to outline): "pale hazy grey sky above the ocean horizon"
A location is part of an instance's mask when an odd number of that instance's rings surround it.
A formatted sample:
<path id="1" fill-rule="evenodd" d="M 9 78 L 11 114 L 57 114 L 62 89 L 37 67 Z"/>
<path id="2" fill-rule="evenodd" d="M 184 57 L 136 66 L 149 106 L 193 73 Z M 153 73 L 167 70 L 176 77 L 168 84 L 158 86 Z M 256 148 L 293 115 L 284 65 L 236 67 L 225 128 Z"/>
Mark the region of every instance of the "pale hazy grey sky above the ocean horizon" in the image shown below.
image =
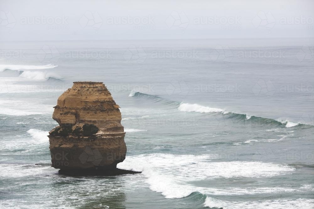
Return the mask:
<path id="1" fill-rule="evenodd" d="M 2 41 L 314 36 L 314 1 L 0 1 Z"/>

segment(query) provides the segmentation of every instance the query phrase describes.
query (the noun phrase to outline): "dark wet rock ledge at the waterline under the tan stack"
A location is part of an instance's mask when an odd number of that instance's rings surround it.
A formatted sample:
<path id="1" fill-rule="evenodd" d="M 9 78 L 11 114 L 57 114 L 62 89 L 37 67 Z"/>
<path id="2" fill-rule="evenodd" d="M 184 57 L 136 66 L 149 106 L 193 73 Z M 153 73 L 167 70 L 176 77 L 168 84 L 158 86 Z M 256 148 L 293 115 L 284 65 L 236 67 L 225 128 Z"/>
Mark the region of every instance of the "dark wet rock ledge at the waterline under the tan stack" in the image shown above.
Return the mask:
<path id="1" fill-rule="evenodd" d="M 59 174 L 69 176 L 114 176 L 123 174 L 138 174 L 140 171 L 123 170 L 123 169 L 112 169 L 112 170 L 96 170 L 96 169 L 71 169 L 71 170 L 59 170 Z"/>

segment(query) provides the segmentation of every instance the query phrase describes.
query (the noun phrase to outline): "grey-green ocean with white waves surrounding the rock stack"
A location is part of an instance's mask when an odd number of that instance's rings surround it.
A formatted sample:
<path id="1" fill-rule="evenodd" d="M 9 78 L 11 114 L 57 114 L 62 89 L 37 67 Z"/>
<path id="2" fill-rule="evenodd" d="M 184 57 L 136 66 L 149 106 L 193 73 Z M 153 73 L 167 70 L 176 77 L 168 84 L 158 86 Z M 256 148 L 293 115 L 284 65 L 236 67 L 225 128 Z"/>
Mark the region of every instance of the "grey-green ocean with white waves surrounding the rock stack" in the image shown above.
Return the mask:
<path id="1" fill-rule="evenodd" d="M 283 40 L 6 42 L 1 208 L 314 208 L 312 48 Z M 51 167 L 53 106 L 102 81 L 137 175 Z"/>

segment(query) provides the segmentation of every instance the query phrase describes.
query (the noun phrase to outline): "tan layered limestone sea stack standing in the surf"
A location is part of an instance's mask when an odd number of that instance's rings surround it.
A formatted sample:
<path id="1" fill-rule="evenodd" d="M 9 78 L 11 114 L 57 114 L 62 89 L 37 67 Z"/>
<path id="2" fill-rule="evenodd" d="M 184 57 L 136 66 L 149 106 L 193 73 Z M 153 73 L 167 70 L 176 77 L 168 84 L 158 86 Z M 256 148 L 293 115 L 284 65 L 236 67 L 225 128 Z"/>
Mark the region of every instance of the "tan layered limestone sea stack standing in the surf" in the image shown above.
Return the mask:
<path id="1" fill-rule="evenodd" d="M 126 157 L 119 106 L 102 82 L 74 82 L 54 107 L 49 132 L 52 167 L 68 175 L 136 173 L 117 169 Z"/>

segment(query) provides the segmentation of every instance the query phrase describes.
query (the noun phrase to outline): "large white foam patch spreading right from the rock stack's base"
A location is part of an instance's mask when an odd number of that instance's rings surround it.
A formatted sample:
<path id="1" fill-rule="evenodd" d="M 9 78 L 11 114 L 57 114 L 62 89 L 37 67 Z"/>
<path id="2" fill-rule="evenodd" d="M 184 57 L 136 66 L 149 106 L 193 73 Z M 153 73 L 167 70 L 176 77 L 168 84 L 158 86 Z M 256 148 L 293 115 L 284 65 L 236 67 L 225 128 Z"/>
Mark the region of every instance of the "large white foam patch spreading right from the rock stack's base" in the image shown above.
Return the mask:
<path id="1" fill-rule="evenodd" d="M 161 192 L 166 198 L 181 198 L 192 192 L 199 191 L 206 194 L 250 194 L 288 191 L 289 188 L 204 188 L 192 186 L 191 181 L 233 178 L 233 177 L 272 177 L 288 174 L 295 168 L 263 162 L 211 162 L 217 155 L 174 155 L 174 154 L 141 154 L 129 156 L 118 168 L 142 171 L 149 188 Z M 171 163 L 169 163 L 171 162 Z"/>

